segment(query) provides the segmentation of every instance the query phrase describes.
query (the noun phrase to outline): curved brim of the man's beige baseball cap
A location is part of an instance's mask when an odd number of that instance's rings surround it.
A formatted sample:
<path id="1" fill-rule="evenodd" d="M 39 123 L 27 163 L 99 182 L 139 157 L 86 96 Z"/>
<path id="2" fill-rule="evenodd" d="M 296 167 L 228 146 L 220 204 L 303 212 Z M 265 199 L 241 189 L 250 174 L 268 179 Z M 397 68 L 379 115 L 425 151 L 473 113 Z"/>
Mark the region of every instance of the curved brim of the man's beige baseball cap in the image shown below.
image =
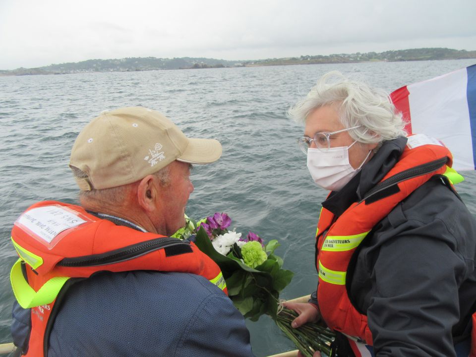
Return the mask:
<path id="1" fill-rule="evenodd" d="M 222 144 L 215 139 L 190 139 L 177 160 L 190 164 L 209 164 L 222 156 Z"/>

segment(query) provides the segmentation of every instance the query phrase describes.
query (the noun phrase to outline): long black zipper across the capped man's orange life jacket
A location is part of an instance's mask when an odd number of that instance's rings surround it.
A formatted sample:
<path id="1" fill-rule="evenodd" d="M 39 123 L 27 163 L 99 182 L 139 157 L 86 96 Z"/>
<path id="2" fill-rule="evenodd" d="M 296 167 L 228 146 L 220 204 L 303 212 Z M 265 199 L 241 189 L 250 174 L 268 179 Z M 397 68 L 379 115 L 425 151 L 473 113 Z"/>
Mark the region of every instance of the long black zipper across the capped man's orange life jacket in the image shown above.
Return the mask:
<path id="1" fill-rule="evenodd" d="M 123 248 L 112 250 L 106 253 L 83 255 L 73 258 L 63 258 L 57 265 L 64 267 L 90 267 L 119 263 L 147 254 L 157 249 L 162 249 L 179 244 L 189 245 L 188 241 L 183 241 L 177 238 L 156 238 L 147 240 L 145 242 L 128 245 Z"/>

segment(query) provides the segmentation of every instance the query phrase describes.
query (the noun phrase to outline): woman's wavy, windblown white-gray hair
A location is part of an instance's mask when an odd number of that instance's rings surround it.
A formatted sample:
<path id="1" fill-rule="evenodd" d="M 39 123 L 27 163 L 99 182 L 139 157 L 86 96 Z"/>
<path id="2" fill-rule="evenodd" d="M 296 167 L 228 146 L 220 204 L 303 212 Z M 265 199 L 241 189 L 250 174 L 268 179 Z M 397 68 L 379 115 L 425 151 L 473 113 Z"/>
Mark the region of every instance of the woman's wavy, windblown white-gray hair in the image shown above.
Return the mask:
<path id="1" fill-rule="evenodd" d="M 384 90 L 338 71 L 324 74 L 307 96 L 288 110 L 288 116 L 304 123 L 312 111 L 329 105 L 335 107 L 345 127 L 362 125 L 349 132 L 360 143 L 381 143 L 407 135 L 402 114 L 396 112 Z"/>

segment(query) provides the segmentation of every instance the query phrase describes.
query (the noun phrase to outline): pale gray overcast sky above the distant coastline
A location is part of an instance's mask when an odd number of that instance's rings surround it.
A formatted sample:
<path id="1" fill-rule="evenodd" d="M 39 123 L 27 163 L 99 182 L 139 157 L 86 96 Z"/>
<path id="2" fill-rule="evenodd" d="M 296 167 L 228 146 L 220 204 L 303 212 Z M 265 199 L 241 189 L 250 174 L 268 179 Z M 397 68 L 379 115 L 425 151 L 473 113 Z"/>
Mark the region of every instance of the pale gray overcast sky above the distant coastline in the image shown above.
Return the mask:
<path id="1" fill-rule="evenodd" d="M 476 0 L 0 0 L 0 69 L 124 57 L 470 51 L 475 16 Z"/>

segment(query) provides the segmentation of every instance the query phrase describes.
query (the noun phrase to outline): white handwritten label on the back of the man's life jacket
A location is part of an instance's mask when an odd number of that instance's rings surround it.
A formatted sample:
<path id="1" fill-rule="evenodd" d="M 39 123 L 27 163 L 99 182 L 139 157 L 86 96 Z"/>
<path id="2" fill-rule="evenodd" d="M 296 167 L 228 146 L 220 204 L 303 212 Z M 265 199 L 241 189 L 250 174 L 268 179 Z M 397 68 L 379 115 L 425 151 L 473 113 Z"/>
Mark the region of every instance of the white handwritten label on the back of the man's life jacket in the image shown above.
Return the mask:
<path id="1" fill-rule="evenodd" d="M 62 231 L 86 223 L 74 212 L 59 206 L 33 208 L 23 213 L 17 222 L 48 243 Z"/>

